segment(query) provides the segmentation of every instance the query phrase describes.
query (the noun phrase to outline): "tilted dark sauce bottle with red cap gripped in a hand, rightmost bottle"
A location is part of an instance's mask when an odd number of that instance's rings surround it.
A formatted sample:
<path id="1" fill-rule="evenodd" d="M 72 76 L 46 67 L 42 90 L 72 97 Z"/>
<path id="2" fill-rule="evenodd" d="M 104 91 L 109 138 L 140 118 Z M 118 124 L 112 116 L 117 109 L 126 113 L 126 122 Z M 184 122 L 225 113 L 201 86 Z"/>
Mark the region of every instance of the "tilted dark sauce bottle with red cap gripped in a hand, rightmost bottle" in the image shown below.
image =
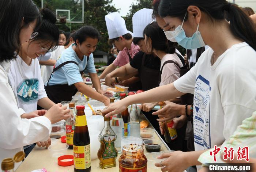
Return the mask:
<path id="1" fill-rule="evenodd" d="M 164 101 L 159 102 L 159 106 L 161 109 L 165 107 L 165 105 L 166 104 Z M 174 124 L 173 120 L 169 120 L 162 123 L 163 135 L 165 136 L 165 141 L 167 143 L 174 141 L 178 137 L 177 130 L 173 128 L 173 124 Z"/>

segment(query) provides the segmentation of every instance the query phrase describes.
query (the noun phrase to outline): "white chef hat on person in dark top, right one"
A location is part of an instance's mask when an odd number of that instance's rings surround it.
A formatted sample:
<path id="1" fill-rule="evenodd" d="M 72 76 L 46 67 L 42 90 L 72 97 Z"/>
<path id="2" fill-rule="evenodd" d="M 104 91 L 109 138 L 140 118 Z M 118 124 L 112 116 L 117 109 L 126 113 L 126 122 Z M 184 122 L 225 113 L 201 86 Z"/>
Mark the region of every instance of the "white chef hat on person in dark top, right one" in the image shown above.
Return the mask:
<path id="1" fill-rule="evenodd" d="M 153 9 L 143 8 L 132 16 L 133 37 L 144 37 L 143 31 L 153 21 Z"/>

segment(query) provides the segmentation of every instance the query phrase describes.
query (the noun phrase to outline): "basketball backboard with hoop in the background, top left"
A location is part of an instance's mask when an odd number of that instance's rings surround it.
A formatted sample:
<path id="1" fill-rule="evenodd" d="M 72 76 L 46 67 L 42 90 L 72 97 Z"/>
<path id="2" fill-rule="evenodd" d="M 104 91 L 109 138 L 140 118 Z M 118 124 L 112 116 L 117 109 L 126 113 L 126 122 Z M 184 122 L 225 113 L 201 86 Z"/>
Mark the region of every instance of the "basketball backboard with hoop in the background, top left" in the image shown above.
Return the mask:
<path id="1" fill-rule="evenodd" d="M 84 23 L 84 0 L 42 0 L 42 8 L 46 7 L 67 23 Z"/>

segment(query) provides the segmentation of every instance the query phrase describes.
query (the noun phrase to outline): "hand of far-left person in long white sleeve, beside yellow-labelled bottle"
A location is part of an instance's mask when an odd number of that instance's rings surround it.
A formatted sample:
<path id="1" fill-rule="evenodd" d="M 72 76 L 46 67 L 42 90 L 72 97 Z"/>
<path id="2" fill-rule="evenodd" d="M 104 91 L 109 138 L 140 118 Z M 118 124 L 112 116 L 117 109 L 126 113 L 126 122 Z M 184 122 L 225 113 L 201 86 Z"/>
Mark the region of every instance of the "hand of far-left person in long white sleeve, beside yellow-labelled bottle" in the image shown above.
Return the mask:
<path id="1" fill-rule="evenodd" d="M 67 109 L 67 106 L 63 106 L 61 103 L 53 105 L 46 113 L 45 117 L 47 117 L 52 124 L 57 123 L 63 119 L 68 119 L 71 117 L 68 113 L 70 112 Z"/>

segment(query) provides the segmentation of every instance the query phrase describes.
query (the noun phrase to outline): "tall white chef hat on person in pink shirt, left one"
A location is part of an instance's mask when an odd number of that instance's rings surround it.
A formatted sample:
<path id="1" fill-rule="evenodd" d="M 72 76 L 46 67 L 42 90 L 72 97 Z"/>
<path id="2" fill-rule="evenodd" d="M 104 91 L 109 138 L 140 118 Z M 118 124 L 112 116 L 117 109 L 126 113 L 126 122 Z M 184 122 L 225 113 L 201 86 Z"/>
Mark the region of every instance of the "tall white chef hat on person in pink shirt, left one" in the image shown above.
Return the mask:
<path id="1" fill-rule="evenodd" d="M 131 33 L 127 30 L 125 21 L 118 12 L 109 13 L 105 16 L 109 39 L 117 38 Z M 132 34 L 133 35 L 133 34 Z"/>

